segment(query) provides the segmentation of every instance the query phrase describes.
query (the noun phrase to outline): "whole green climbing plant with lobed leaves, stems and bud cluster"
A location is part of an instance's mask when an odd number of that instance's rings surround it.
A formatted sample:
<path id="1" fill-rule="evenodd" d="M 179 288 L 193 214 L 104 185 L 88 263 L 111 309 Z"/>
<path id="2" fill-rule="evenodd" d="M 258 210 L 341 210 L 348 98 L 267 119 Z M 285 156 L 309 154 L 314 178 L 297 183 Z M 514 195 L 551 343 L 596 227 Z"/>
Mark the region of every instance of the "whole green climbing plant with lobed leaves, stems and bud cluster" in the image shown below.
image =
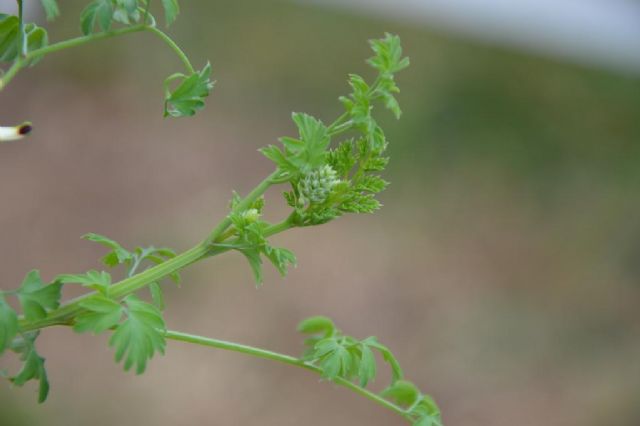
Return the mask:
<path id="1" fill-rule="evenodd" d="M 166 25 L 179 14 L 177 0 L 158 1 Z M 56 0 L 41 0 L 49 20 L 59 15 Z M 185 70 L 169 76 L 164 83 L 164 115 L 194 115 L 204 107 L 213 88 L 211 66 L 196 69 L 178 45 L 162 30 L 152 15 L 152 0 L 93 0 L 82 11 L 77 38 L 49 43 L 47 31 L 23 19 L 23 0 L 17 0 L 18 16 L 0 14 L 0 61 L 9 63 L 0 76 L 0 90 L 24 68 L 42 57 L 93 41 L 137 32 L 151 33 L 174 51 Z M 51 326 L 72 327 L 77 333 L 110 333 L 109 346 L 116 362 L 137 374 L 147 362 L 164 353 L 167 340 L 177 340 L 266 358 L 319 374 L 326 380 L 356 392 L 394 411 L 415 426 L 442 425 L 434 400 L 404 379 L 393 353 L 375 337 L 357 339 L 344 334 L 327 317 L 314 316 L 298 325 L 308 337 L 306 350 L 293 357 L 265 349 L 173 331 L 163 319 L 165 307 L 162 285 L 167 280 L 180 283 L 180 271 L 187 266 L 236 251 L 251 266 L 257 285 L 261 285 L 263 262 L 283 276 L 296 264 L 288 249 L 274 247 L 270 237 L 291 228 L 316 226 L 348 213 L 372 213 L 380 207 L 377 193 L 385 189 L 380 173 L 385 169 L 387 140 L 372 112 L 382 103 L 396 118 L 401 111 L 394 96 L 399 92 L 394 75 L 409 65 L 402 56 L 400 39 L 386 34 L 370 42 L 373 57 L 368 64 L 377 75 L 372 83 L 351 74 L 351 93 L 340 98 L 344 113 L 330 124 L 309 114 L 294 113 L 296 137 L 283 137 L 280 146 L 260 150 L 275 163 L 275 171 L 247 195 L 234 192 L 229 214 L 194 247 L 180 254 L 167 248 L 127 249 L 116 241 L 97 234 L 83 238 L 101 244 L 107 250 L 102 263 L 114 272 L 91 270 L 61 274 L 51 282 L 43 281 L 38 270 L 28 272 L 14 290 L 0 291 L 0 355 L 15 353 L 22 368 L 15 374 L 3 370 L 13 385 L 38 382 L 38 401 L 49 393 L 45 359 L 36 349 L 40 333 Z M 31 124 L 0 127 L 0 141 L 18 140 L 31 131 Z M 332 144 L 334 140 L 337 143 Z M 284 200 L 290 214 L 281 222 L 262 219 L 263 194 L 275 185 L 284 185 Z M 65 285 L 80 285 L 87 293 L 62 302 Z M 148 289 L 148 300 L 140 294 Z M 146 294 L 146 293 L 145 293 Z M 13 299 L 13 302 L 11 302 Z M 19 307 L 20 313 L 14 307 Z M 367 389 L 378 370 L 375 353 L 391 369 L 391 383 L 381 393 Z"/>

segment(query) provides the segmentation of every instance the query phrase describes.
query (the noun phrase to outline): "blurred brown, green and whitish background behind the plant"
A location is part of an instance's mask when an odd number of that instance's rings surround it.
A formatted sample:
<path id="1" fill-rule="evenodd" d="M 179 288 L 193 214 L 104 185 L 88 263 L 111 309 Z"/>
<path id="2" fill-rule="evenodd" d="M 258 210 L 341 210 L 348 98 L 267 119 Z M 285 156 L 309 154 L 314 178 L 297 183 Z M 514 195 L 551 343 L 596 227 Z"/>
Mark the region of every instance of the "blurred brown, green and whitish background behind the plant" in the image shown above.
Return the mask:
<path id="1" fill-rule="evenodd" d="M 79 33 L 85 2 L 62 3 L 52 40 Z M 182 3 L 169 33 L 218 81 L 192 119 L 162 118 L 181 67 L 145 34 L 51 55 L 2 92 L 2 123 L 35 127 L 1 147 L 2 288 L 98 268 L 87 232 L 191 247 L 270 172 L 256 150 L 295 134 L 291 111 L 339 115 L 347 74 L 372 75 L 366 40 L 393 32 L 412 66 L 402 119 L 378 113 L 384 208 L 275 237 L 299 267 L 260 289 L 238 254 L 189 268 L 166 285 L 169 327 L 299 354 L 298 321 L 328 315 L 390 346 L 447 425 L 640 424 L 638 2 Z M 106 337 L 48 329 L 39 349 L 49 400 L 3 384 L 3 425 L 402 424 L 238 354 L 169 342 L 136 377 Z"/>

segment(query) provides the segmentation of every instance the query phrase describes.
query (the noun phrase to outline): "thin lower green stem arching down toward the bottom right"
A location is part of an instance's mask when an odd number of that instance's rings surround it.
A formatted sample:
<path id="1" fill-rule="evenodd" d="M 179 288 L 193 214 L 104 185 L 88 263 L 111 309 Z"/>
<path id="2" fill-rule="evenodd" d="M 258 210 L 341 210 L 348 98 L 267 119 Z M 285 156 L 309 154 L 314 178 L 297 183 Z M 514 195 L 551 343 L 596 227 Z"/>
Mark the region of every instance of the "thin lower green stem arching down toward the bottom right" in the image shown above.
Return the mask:
<path id="1" fill-rule="evenodd" d="M 178 331 L 167 330 L 165 337 L 171 340 L 177 340 L 186 343 L 192 343 L 201 346 L 209 346 L 212 348 L 223 349 L 227 351 L 239 352 L 245 355 L 250 355 L 258 358 L 269 359 L 271 361 L 281 362 L 283 364 L 293 365 L 295 367 L 304 368 L 309 371 L 313 371 L 314 373 L 322 375 L 322 369 L 316 367 L 313 364 L 307 363 L 301 359 L 294 358 L 290 355 L 281 354 L 278 352 L 269 351 L 266 349 L 260 349 L 253 346 L 242 345 L 239 343 L 228 342 L 225 340 L 212 339 L 209 337 L 196 336 L 193 334 L 181 333 Z M 364 396 L 365 398 L 375 402 L 378 405 L 381 405 L 384 408 L 387 408 L 393 411 L 396 414 L 399 414 L 405 419 L 409 419 L 409 413 L 405 411 L 403 408 L 387 401 L 375 393 L 360 387 L 346 379 L 341 377 L 336 377 L 333 379 L 333 382 L 337 385 L 345 387 L 359 395 Z"/>

